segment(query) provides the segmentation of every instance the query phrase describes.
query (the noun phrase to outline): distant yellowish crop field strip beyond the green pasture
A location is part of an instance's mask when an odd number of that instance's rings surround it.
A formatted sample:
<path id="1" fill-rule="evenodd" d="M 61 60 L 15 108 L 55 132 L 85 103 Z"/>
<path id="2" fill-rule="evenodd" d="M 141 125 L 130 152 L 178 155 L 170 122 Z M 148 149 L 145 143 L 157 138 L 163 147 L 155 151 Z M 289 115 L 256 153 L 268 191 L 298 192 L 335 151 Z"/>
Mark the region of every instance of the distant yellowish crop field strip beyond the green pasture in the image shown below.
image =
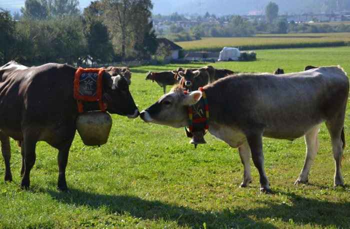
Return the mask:
<path id="1" fill-rule="evenodd" d="M 282 46 L 325 45 L 334 42 L 350 42 L 350 33 L 291 33 L 256 34 L 252 37 L 203 37 L 200 40 L 176 42 L 185 50 L 219 51 L 224 46 L 243 49 L 265 49 Z"/>

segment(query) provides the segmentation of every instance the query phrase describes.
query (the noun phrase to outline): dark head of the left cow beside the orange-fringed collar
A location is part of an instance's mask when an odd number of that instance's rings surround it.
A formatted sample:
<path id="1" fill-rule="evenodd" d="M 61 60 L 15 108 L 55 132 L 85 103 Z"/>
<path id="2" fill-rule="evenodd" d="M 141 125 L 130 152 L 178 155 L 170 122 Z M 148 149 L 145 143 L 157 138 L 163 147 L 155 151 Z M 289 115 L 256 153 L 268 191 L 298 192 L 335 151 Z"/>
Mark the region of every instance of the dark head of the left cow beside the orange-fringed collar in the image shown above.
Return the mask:
<path id="1" fill-rule="evenodd" d="M 108 72 L 103 74 L 103 99 L 107 101 L 107 111 L 137 117 L 139 112 L 129 91 L 129 85 L 123 75 L 111 76 Z"/>

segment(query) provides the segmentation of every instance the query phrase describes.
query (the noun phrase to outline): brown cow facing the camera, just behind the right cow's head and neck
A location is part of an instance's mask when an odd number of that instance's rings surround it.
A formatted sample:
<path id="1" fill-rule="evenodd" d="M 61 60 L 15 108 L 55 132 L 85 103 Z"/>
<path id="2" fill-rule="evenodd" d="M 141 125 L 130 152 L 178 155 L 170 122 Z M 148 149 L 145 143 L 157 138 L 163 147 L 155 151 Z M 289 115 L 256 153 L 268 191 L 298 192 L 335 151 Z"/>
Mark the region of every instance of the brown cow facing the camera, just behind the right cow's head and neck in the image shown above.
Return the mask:
<path id="1" fill-rule="evenodd" d="M 177 75 L 180 78 L 180 85 L 187 90 L 196 90 L 214 81 L 215 68 L 205 66 L 201 68 L 186 68 L 184 71 L 178 71 Z"/>

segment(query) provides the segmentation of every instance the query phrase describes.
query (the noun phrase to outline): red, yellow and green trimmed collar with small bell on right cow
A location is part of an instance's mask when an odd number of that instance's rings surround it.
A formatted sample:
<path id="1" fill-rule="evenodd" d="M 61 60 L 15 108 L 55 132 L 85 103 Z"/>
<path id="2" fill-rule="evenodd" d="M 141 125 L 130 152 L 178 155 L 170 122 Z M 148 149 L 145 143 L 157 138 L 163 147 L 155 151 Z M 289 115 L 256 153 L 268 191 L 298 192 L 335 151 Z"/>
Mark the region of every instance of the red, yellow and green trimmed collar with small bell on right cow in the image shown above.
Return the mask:
<path id="1" fill-rule="evenodd" d="M 189 143 L 194 144 L 194 147 L 197 147 L 197 144 L 206 143 L 204 140 L 204 135 L 209 128 L 209 105 L 206 98 L 205 91 L 202 87 L 198 88 L 202 92 L 202 96 L 198 102 L 187 107 L 188 113 L 188 130 L 184 127 L 187 137 L 192 139 Z M 185 94 L 188 92 L 183 91 Z"/>

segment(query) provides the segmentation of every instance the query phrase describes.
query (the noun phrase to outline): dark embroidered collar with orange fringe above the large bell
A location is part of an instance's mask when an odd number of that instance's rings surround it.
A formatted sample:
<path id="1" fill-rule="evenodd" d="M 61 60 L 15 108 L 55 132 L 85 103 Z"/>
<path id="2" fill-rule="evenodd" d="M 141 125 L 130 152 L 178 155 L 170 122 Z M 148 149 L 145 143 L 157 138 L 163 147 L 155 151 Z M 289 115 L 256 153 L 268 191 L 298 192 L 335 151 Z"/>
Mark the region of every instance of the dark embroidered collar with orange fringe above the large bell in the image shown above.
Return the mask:
<path id="1" fill-rule="evenodd" d="M 74 99 L 76 99 L 78 112 L 91 110 L 106 111 L 107 103 L 102 100 L 103 68 L 82 68 L 75 71 Z"/>

